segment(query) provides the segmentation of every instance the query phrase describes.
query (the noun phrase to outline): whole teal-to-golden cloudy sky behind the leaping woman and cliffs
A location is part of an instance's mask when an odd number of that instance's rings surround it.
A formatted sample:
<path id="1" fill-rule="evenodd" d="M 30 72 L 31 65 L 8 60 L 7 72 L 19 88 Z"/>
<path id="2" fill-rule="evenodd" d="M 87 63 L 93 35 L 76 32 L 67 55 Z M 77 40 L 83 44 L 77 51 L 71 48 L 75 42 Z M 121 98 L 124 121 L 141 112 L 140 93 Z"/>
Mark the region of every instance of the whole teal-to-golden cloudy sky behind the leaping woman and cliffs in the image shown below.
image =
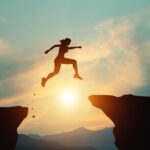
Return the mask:
<path id="1" fill-rule="evenodd" d="M 0 106 L 29 107 L 21 133 L 113 126 L 88 96 L 149 96 L 149 18 L 149 0 L 0 0 Z M 66 37 L 82 46 L 65 56 L 77 60 L 84 80 L 63 65 L 42 88 L 58 49 L 44 51 Z M 75 102 L 68 106 L 62 95 L 69 91 Z"/>

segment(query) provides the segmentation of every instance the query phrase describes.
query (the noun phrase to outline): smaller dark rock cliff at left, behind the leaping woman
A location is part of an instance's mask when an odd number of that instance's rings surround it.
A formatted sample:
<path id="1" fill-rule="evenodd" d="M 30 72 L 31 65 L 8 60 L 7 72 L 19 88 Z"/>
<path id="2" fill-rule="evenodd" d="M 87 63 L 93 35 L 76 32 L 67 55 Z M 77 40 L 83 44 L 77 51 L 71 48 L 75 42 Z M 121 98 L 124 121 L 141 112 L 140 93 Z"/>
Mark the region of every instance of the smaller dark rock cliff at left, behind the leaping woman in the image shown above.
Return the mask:
<path id="1" fill-rule="evenodd" d="M 26 107 L 0 108 L 0 150 L 14 150 L 18 139 L 17 128 L 28 114 Z"/>

